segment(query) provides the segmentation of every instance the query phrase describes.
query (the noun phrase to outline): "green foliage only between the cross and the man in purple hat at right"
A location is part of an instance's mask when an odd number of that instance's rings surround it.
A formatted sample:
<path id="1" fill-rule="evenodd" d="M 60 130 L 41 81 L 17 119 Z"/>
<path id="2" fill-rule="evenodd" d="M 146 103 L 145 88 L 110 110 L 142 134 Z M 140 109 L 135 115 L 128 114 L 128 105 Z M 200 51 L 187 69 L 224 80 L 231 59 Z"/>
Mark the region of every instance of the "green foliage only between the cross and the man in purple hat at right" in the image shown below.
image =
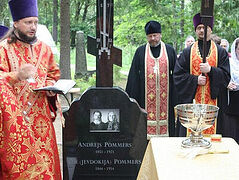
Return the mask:
<path id="1" fill-rule="evenodd" d="M 192 12 L 181 9 L 180 0 L 170 2 L 167 0 L 133 0 L 127 3 L 116 1 L 115 43 L 120 46 L 144 44 L 146 42 L 145 24 L 149 20 L 157 20 L 162 25 L 162 40 L 176 49 L 184 48 L 182 42 L 186 36 L 194 34 L 191 22 Z M 125 8 L 122 8 L 122 5 Z M 185 7 L 188 8 L 188 4 Z M 190 19 L 187 20 L 189 17 Z M 186 25 L 183 29 L 180 27 L 182 20 Z"/>

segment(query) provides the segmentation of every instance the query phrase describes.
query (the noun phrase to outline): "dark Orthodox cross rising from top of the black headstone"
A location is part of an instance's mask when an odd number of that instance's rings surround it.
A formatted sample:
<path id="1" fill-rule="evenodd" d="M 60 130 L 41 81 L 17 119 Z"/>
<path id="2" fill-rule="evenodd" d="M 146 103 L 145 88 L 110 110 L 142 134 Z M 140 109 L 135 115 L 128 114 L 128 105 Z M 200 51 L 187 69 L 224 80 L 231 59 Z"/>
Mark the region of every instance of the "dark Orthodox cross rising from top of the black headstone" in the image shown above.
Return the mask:
<path id="1" fill-rule="evenodd" d="M 113 86 L 113 64 L 122 66 L 122 51 L 113 46 L 113 0 L 96 2 L 96 39 L 87 37 L 87 52 L 96 56 L 96 86 Z"/>

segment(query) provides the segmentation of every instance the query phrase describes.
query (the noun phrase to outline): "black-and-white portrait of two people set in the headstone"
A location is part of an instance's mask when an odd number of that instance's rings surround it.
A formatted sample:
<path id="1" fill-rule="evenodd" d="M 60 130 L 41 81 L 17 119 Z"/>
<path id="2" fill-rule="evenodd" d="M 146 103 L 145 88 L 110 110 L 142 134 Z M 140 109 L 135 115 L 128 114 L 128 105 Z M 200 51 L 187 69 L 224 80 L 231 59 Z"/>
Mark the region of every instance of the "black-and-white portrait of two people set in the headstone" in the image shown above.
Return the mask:
<path id="1" fill-rule="evenodd" d="M 90 109 L 90 132 L 120 132 L 119 109 Z"/>

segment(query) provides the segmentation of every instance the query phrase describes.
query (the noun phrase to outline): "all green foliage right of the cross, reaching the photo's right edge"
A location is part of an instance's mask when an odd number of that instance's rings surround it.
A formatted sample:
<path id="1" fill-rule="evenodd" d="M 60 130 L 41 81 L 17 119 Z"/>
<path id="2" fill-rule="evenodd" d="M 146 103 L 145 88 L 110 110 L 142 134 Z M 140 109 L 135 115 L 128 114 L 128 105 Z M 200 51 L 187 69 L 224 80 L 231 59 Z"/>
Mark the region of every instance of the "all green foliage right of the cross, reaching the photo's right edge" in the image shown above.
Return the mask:
<path id="1" fill-rule="evenodd" d="M 200 10 L 201 0 L 116 0 L 115 43 L 120 46 L 145 43 L 145 23 L 158 20 L 162 25 L 162 40 L 179 52 L 184 48 L 183 42 L 188 35 L 195 37 L 192 18 Z M 214 33 L 229 42 L 238 37 L 238 10 L 239 1 L 215 0 Z"/>

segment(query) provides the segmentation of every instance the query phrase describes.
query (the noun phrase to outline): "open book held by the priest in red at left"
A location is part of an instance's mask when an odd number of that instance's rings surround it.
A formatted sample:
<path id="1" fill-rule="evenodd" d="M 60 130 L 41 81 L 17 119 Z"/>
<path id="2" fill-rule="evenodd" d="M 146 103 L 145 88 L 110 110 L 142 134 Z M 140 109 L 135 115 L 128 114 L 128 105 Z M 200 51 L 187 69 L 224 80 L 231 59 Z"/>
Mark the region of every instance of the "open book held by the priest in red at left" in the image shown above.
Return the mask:
<path id="1" fill-rule="evenodd" d="M 76 82 L 71 79 L 59 79 L 53 86 L 45 86 L 34 91 L 53 91 L 57 94 L 66 94 Z"/>

